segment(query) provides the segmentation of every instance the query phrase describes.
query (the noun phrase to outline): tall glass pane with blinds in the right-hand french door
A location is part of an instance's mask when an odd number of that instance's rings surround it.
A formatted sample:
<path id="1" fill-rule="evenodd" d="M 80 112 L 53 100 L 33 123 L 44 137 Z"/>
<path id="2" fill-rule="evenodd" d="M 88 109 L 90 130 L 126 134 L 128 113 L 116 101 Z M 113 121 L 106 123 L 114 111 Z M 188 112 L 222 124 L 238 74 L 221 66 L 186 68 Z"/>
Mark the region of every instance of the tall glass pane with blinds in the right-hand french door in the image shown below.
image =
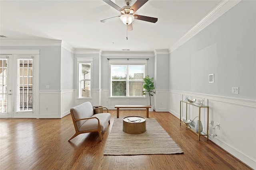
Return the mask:
<path id="1" fill-rule="evenodd" d="M 33 59 L 18 60 L 16 111 L 33 110 Z"/>

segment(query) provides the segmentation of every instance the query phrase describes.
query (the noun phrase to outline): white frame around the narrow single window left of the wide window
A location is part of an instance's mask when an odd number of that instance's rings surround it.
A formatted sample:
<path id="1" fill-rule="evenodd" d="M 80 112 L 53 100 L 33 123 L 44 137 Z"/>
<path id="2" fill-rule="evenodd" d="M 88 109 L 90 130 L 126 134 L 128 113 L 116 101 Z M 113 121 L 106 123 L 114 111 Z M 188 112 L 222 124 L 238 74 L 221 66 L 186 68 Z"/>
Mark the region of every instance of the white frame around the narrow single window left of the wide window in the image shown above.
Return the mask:
<path id="1" fill-rule="evenodd" d="M 78 99 L 92 99 L 92 75 L 93 75 L 93 72 L 92 72 L 92 67 L 93 67 L 93 58 L 89 58 L 89 57 L 78 57 L 76 58 L 77 59 L 77 93 L 78 93 Z M 80 64 L 83 64 L 83 63 L 90 63 L 91 64 L 91 84 L 90 84 L 90 97 L 81 97 L 81 92 L 80 92 Z"/>

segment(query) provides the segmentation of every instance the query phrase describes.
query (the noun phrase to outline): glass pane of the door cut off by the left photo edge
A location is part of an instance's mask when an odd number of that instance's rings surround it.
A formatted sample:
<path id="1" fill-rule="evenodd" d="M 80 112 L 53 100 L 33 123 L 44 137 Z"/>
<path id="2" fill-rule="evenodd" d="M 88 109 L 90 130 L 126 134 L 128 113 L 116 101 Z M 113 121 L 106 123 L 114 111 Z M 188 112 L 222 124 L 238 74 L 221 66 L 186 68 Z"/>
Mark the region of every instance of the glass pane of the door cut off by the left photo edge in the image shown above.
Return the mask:
<path id="1" fill-rule="evenodd" d="M 7 59 L 0 59 L 0 113 L 7 112 Z"/>

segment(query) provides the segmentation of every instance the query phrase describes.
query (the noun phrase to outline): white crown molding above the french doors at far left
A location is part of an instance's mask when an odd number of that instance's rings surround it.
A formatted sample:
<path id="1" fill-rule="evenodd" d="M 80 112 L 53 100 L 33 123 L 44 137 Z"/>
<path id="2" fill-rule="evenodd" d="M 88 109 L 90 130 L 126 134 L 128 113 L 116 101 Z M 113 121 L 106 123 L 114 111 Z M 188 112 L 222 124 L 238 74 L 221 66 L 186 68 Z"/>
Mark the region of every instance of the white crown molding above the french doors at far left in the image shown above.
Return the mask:
<path id="1" fill-rule="evenodd" d="M 61 40 L 49 39 L 0 39 L 1 46 L 61 46 Z"/>

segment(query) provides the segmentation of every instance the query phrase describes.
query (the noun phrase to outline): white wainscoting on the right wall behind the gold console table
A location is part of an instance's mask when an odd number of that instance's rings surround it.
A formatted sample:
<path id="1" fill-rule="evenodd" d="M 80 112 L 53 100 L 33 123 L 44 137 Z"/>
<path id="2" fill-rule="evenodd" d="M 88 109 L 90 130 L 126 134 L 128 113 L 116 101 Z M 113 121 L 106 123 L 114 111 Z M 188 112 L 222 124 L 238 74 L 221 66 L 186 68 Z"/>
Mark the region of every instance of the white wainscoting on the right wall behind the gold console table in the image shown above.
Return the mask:
<path id="1" fill-rule="evenodd" d="M 215 129 L 217 136 L 209 137 L 209 140 L 255 169 L 256 101 L 170 90 L 169 111 L 178 118 L 180 118 L 180 100 L 184 100 L 186 96 L 189 99 L 196 98 L 197 103 L 204 99 L 204 104 L 209 106 L 209 122 L 211 120 L 214 122 L 213 126 L 209 125 L 209 134 L 213 134 L 212 128 L 220 123 L 220 129 L 217 127 Z M 182 118 L 186 115 L 185 106 L 186 104 L 182 106 Z M 192 107 L 189 107 L 188 111 L 196 116 L 198 108 L 192 109 Z M 203 113 L 201 111 L 201 114 L 205 116 L 204 121 L 206 121 L 206 113 L 206 109 Z M 206 125 L 204 122 L 204 131 L 206 131 Z"/>

